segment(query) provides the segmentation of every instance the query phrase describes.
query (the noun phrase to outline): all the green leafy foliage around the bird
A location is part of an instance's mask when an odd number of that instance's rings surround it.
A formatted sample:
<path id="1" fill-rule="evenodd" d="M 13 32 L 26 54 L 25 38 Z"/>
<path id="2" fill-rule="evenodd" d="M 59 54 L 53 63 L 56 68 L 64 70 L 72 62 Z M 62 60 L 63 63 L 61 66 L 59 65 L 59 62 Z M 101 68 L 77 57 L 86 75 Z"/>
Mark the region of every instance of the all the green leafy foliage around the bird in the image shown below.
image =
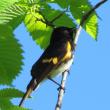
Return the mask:
<path id="1" fill-rule="evenodd" d="M 60 8 L 54 8 L 53 4 Z M 45 49 L 53 30 L 51 24 L 56 27 L 76 27 L 84 13 L 91 8 L 88 0 L 0 0 L 0 84 L 10 87 L 22 70 L 22 46 L 13 34 L 21 23 L 25 24 L 33 40 Z M 54 20 L 58 15 L 61 16 Z M 96 12 L 88 18 L 83 28 L 92 38 L 97 39 Z M 0 90 L 1 110 L 25 110 L 10 101 L 22 95 L 17 89 Z"/>

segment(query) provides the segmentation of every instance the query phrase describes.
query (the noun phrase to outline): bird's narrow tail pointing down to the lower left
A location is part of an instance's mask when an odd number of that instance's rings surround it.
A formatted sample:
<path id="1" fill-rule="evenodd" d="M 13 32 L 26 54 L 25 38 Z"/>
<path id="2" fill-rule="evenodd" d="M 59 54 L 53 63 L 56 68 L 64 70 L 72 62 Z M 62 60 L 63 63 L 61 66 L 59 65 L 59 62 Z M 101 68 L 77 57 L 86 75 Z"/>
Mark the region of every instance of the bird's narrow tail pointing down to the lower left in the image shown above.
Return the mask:
<path id="1" fill-rule="evenodd" d="M 27 91 L 24 94 L 23 98 L 20 101 L 19 107 L 21 107 L 23 105 L 23 102 L 26 98 L 28 98 L 30 96 L 30 94 L 32 93 L 33 90 L 35 90 L 35 88 L 37 87 L 37 81 L 35 78 L 32 78 L 32 80 L 30 81 L 30 83 L 27 86 Z"/>

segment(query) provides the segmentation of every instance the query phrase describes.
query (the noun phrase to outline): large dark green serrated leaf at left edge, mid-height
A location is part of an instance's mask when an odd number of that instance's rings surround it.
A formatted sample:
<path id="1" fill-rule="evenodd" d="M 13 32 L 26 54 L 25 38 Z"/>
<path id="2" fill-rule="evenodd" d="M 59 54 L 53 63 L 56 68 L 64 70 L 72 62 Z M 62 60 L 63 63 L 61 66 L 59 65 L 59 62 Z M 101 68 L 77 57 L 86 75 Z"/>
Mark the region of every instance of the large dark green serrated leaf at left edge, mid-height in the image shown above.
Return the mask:
<path id="1" fill-rule="evenodd" d="M 19 74 L 23 64 L 22 52 L 12 29 L 0 25 L 0 84 L 11 85 Z"/>

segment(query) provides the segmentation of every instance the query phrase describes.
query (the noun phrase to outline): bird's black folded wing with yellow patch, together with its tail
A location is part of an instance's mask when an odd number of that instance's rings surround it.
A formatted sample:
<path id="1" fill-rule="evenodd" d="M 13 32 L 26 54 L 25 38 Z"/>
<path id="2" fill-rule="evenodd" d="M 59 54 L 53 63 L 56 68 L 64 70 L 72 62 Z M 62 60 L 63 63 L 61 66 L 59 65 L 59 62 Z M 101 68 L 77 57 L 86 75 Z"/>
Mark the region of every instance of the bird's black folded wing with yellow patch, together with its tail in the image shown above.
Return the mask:
<path id="1" fill-rule="evenodd" d="M 67 43 L 58 44 L 57 46 L 49 46 L 39 60 L 33 65 L 31 74 L 32 80 L 27 86 L 27 91 L 24 94 L 19 106 L 22 106 L 24 100 L 31 94 L 33 90 L 44 80 L 48 74 L 62 63 L 67 53 Z"/>

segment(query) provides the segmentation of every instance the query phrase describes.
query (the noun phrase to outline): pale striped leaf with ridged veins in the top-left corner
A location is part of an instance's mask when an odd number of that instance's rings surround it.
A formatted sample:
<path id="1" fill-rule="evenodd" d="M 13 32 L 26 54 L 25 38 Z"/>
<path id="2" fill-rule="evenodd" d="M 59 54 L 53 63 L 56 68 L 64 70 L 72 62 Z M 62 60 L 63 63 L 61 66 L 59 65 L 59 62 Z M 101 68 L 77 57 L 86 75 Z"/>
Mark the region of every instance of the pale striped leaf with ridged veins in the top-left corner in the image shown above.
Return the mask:
<path id="1" fill-rule="evenodd" d="M 0 24 L 6 24 L 15 29 L 24 19 L 26 9 L 12 4 L 11 6 L 5 7 L 4 10 L 0 10 Z"/>

